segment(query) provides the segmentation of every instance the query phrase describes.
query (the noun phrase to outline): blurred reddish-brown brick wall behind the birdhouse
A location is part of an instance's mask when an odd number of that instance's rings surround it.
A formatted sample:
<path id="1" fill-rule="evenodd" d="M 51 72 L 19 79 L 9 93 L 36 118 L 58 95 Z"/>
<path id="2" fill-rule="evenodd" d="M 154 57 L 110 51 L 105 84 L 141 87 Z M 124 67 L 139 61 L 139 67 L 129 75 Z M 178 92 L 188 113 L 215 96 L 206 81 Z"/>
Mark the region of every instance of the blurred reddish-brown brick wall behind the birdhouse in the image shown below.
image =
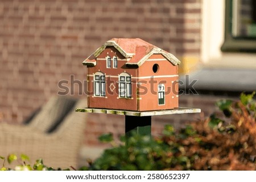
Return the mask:
<path id="1" fill-rule="evenodd" d="M 200 0 L 1 0 L 0 120 L 20 123 L 57 94 L 59 81 L 84 80 L 81 62 L 113 37 L 140 37 L 177 57 L 199 57 L 200 13 Z M 76 86 L 75 96 L 85 96 L 78 93 Z M 181 100 L 200 106 L 190 96 Z M 153 133 L 168 119 L 155 117 Z M 119 120 L 90 115 L 85 143 L 95 144 L 102 132 L 123 133 Z"/>

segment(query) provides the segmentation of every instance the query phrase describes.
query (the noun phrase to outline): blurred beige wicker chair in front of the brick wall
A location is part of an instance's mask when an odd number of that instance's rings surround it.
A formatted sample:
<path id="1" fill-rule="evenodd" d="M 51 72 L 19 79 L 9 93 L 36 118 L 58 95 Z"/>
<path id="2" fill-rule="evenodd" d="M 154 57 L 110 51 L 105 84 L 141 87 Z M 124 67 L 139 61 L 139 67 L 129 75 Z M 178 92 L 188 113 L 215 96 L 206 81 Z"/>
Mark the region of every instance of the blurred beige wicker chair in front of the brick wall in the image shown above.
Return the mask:
<path id="1" fill-rule="evenodd" d="M 26 154 L 53 168 L 77 167 L 86 114 L 75 112 L 86 100 L 51 98 L 23 125 L 0 123 L 0 155 Z"/>

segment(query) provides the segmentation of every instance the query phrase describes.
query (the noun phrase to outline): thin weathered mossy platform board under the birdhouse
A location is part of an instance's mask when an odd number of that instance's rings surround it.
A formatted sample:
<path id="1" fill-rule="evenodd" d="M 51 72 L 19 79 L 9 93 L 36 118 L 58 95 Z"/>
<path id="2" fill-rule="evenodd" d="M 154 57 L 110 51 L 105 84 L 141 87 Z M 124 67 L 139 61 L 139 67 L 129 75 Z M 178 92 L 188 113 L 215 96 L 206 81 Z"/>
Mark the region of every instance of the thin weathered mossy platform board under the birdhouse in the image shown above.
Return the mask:
<path id="1" fill-rule="evenodd" d="M 200 113 L 201 109 L 179 107 L 179 108 L 159 110 L 159 111 L 123 111 L 123 110 L 115 110 L 115 109 L 76 108 L 76 112 L 105 113 L 105 114 L 125 115 L 125 116 L 159 116 L 159 115 L 174 115 L 174 114 L 184 114 L 184 113 Z"/>

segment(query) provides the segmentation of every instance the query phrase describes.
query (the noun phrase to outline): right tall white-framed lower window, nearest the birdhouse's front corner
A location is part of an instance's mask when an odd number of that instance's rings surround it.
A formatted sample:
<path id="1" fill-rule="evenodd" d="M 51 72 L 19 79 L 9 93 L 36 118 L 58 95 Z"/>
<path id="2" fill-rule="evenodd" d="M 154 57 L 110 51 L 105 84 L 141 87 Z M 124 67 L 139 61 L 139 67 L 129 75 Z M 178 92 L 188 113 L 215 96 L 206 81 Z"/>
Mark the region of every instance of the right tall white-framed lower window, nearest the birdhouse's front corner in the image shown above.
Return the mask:
<path id="1" fill-rule="evenodd" d="M 119 98 L 131 98 L 131 76 L 127 73 L 119 75 Z"/>

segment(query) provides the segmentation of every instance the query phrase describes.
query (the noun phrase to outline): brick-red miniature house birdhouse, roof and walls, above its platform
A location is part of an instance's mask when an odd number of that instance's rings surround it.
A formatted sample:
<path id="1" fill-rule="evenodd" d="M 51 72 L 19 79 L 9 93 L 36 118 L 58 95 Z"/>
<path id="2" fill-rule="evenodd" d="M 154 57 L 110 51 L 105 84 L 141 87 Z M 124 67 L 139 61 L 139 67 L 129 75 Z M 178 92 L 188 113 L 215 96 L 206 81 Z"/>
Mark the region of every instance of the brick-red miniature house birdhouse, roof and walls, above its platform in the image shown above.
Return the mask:
<path id="1" fill-rule="evenodd" d="M 179 107 L 180 61 L 142 39 L 111 39 L 83 62 L 88 108 L 157 111 Z"/>

